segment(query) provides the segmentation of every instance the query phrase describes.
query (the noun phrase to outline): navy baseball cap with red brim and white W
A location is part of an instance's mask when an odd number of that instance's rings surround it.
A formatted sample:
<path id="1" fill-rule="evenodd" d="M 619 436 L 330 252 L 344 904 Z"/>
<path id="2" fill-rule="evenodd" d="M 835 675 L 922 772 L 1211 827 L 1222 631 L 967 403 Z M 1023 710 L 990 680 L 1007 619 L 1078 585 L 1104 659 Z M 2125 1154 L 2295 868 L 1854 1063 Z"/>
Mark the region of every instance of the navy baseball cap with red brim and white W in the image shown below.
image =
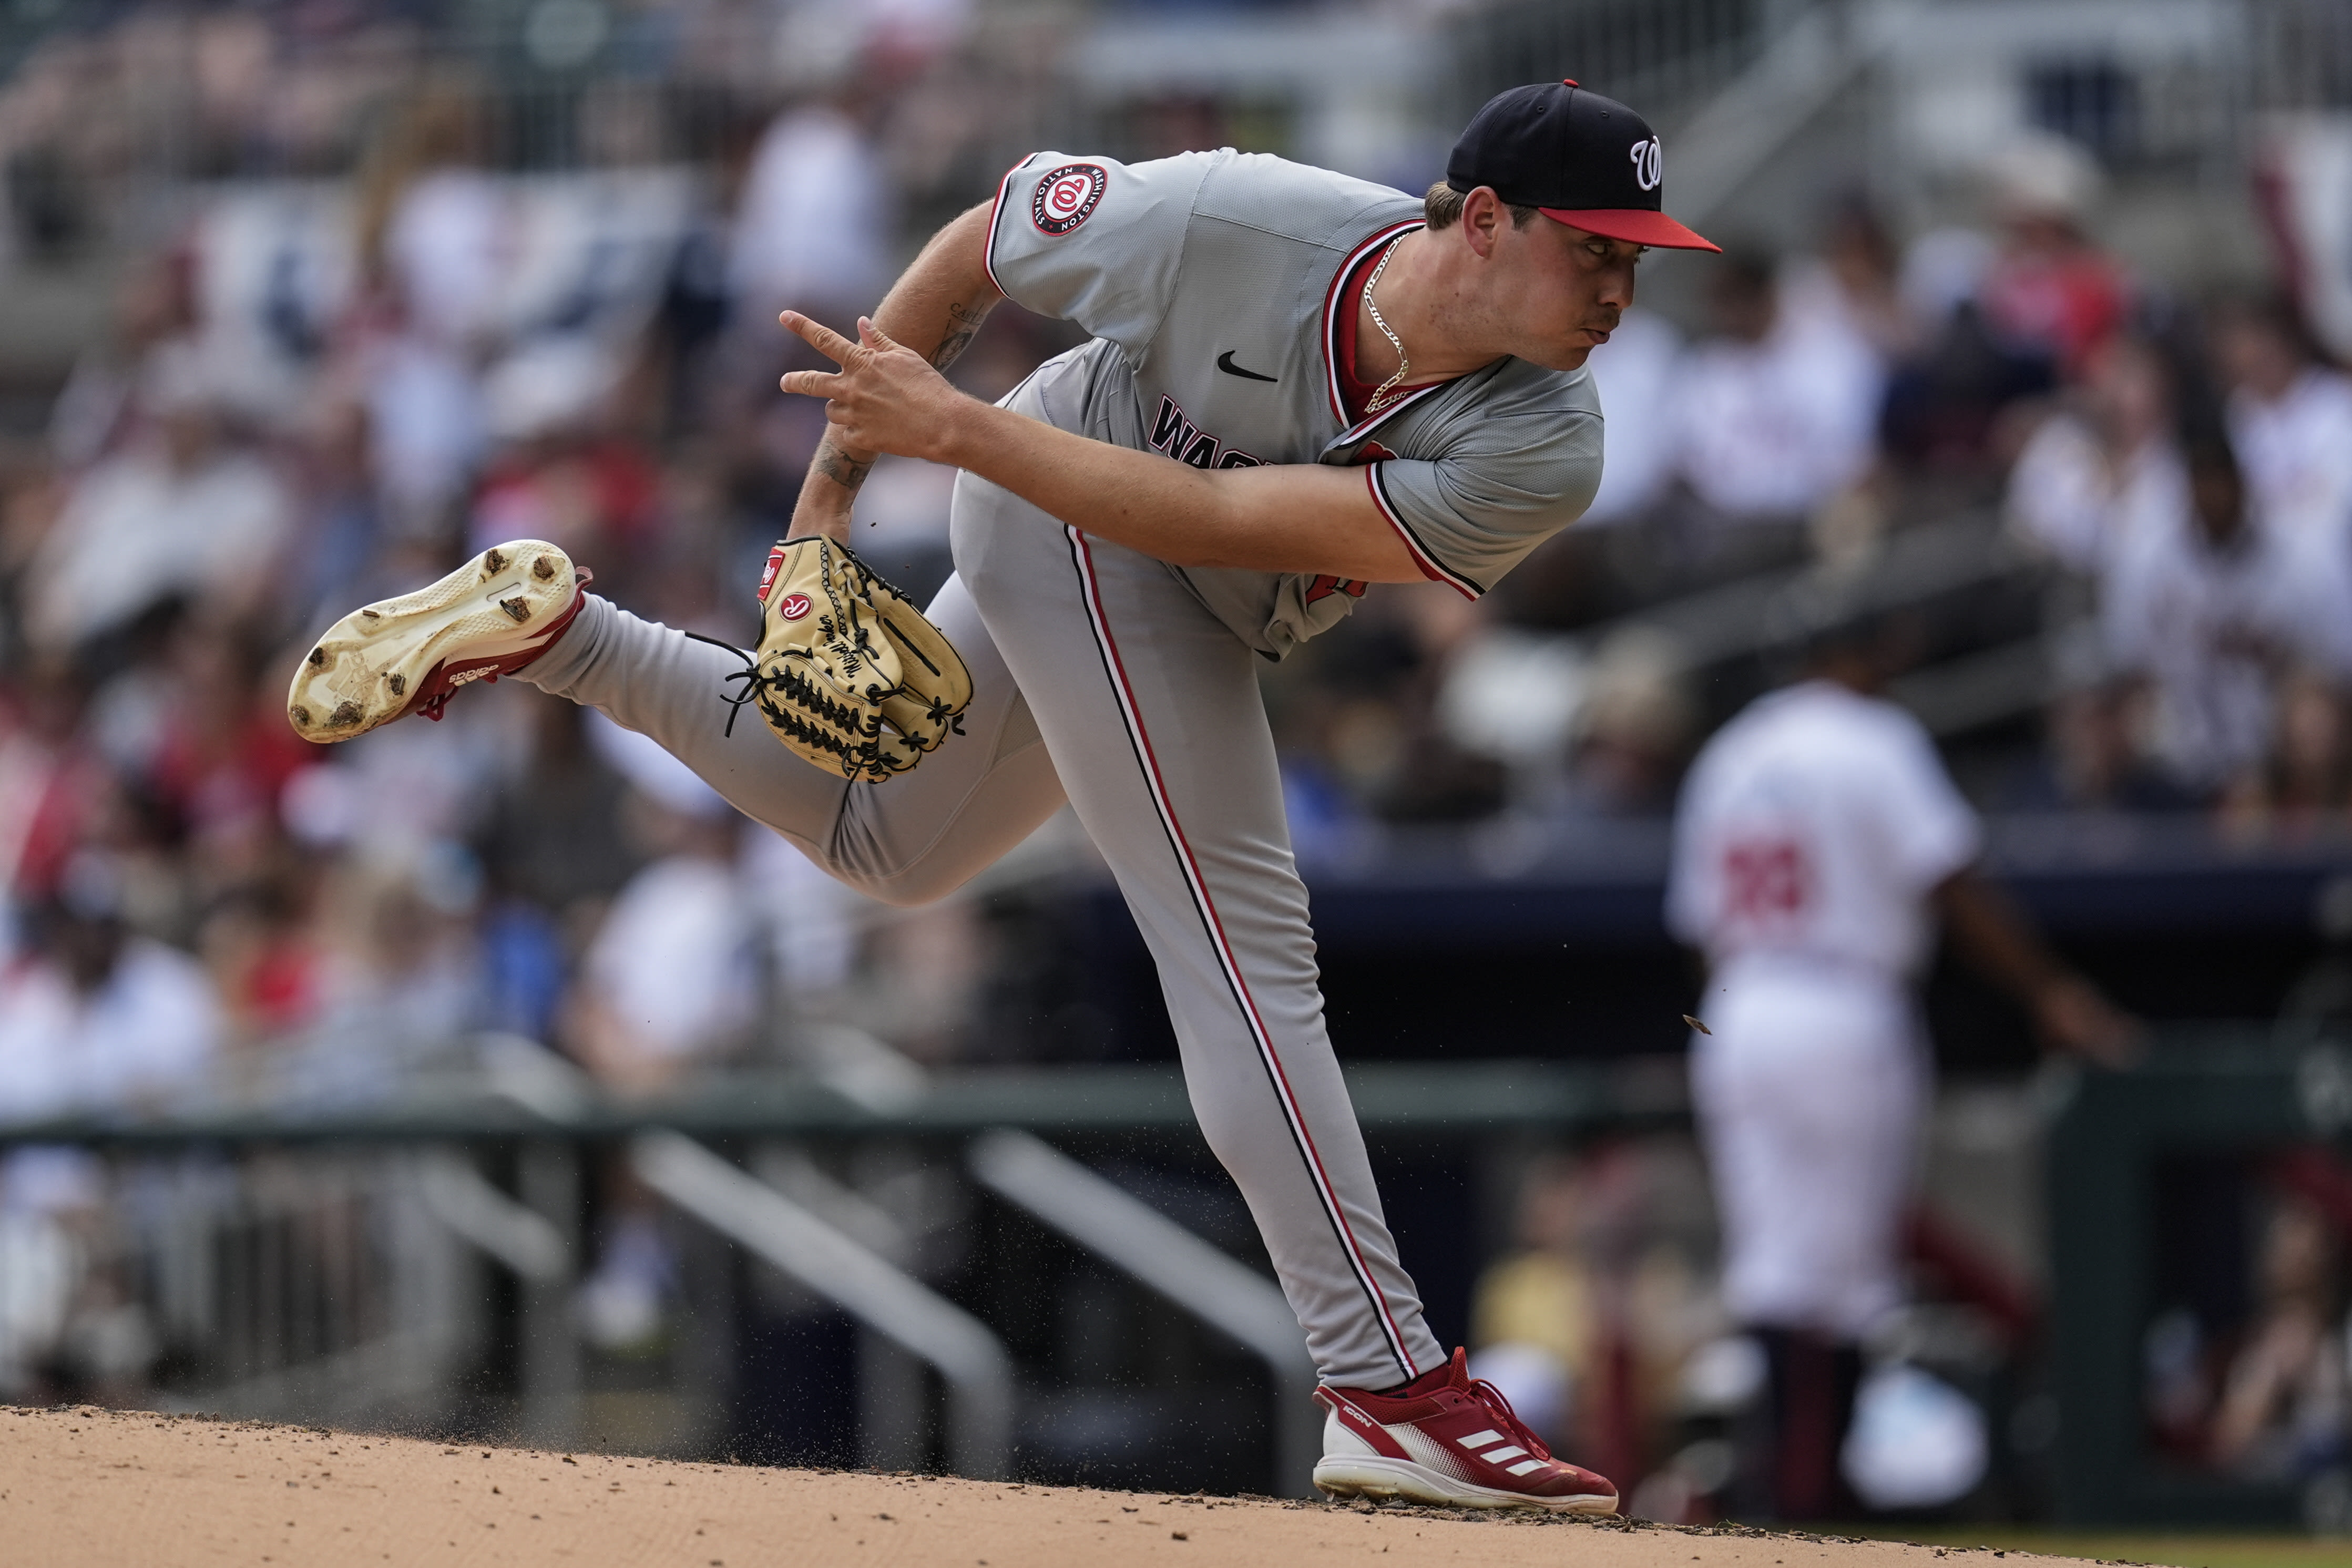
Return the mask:
<path id="1" fill-rule="evenodd" d="M 1463 195 L 1491 186 L 1512 207 L 1609 240 L 1724 249 L 1665 216 L 1665 160 L 1649 120 L 1576 82 L 1486 99 L 1446 158 L 1446 186 Z"/>

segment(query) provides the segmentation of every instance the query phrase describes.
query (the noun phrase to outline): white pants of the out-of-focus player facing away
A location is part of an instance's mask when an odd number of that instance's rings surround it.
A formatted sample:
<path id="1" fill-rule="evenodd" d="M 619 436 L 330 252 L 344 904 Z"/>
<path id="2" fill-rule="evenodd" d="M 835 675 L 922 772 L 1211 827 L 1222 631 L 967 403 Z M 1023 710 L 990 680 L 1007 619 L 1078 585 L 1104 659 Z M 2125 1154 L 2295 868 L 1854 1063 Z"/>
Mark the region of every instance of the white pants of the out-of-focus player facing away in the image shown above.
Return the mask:
<path id="1" fill-rule="evenodd" d="M 1708 992 L 1691 1091 L 1740 1324 L 1856 1340 L 1903 1300 L 1926 1051 L 1898 978 L 1740 966 Z"/>

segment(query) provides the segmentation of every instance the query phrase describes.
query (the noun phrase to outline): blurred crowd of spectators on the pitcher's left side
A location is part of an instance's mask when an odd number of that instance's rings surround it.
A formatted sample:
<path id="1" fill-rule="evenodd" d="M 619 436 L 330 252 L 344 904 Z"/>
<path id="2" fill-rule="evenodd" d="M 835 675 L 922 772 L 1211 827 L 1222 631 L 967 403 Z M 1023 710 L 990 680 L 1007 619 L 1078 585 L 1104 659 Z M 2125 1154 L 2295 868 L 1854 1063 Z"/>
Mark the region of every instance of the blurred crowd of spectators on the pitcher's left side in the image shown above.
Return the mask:
<path id="1" fill-rule="evenodd" d="M 42 425 L 0 442 L 0 1121 L 350 1105 L 499 1037 L 616 1095 L 969 1046 L 971 900 L 873 905 L 600 715 L 482 684 L 332 750 L 285 722 L 327 623 L 501 538 L 755 637 L 823 425 L 774 390 L 774 313 L 873 308 L 1023 101 L 971 87 L 953 2 L 788 7 L 781 33 L 771 7 L 588 9 L 647 33 L 637 71 L 536 99 L 374 7 L 134 7 L 0 87 L 7 266 L 158 228 Z M 87 113 L 125 99 L 153 118 Z M 122 200 L 155 174 L 348 179 Z M 957 378 L 997 397 L 1068 341 L 1000 313 Z M 884 465 L 861 501 L 861 548 L 917 595 L 948 574 L 946 487 Z M 153 1333 L 78 1349 L 120 1295 L 92 1267 L 108 1185 L 0 1159 L 0 1394 L 153 1363 Z M 673 1284 L 647 1204 L 597 1197 L 583 1312 L 614 1342 L 659 1333 Z"/>

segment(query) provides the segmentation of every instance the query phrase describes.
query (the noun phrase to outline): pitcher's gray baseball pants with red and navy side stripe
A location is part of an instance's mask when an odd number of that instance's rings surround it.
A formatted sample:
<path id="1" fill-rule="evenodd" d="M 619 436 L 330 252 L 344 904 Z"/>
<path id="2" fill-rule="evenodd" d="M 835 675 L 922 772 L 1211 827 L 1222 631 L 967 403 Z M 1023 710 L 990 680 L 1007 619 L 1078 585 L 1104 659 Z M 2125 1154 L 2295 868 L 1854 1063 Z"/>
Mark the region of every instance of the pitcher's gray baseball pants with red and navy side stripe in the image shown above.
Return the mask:
<path id="1" fill-rule="evenodd" d="M 971 668 L 971 708 L 889 783 L 800 762 L 757 712 L 724 738 L 741 663 L 597 597 L 517 679 L 652 736 L 894 905 L 955 891 L 1068 799 L 1160 964 L 1192 1112 L 1322 1378 L 1381 1389 L 1439 1366 L 1324 1032 L 1256 654 L 1176 569 L 985 480 L 957 480 L 953 545 L 931 621 Z"/>

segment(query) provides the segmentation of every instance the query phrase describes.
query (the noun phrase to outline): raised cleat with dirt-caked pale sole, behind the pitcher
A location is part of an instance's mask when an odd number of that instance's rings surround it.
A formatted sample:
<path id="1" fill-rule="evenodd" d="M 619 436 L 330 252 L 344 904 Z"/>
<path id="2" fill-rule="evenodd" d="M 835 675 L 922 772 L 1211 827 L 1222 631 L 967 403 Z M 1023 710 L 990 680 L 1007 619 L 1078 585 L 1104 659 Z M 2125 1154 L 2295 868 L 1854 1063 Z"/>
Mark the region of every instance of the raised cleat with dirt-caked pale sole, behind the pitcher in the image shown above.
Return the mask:
<path id="1" fill-rule="evenodd" d="M 560 548 L 515 538 L 397 599 L 350 611 L 294 672 L 287 722 L 303 741 L 350 741 L 468 682 L 520 670 L 562 635 L 586 574 Z"/>

